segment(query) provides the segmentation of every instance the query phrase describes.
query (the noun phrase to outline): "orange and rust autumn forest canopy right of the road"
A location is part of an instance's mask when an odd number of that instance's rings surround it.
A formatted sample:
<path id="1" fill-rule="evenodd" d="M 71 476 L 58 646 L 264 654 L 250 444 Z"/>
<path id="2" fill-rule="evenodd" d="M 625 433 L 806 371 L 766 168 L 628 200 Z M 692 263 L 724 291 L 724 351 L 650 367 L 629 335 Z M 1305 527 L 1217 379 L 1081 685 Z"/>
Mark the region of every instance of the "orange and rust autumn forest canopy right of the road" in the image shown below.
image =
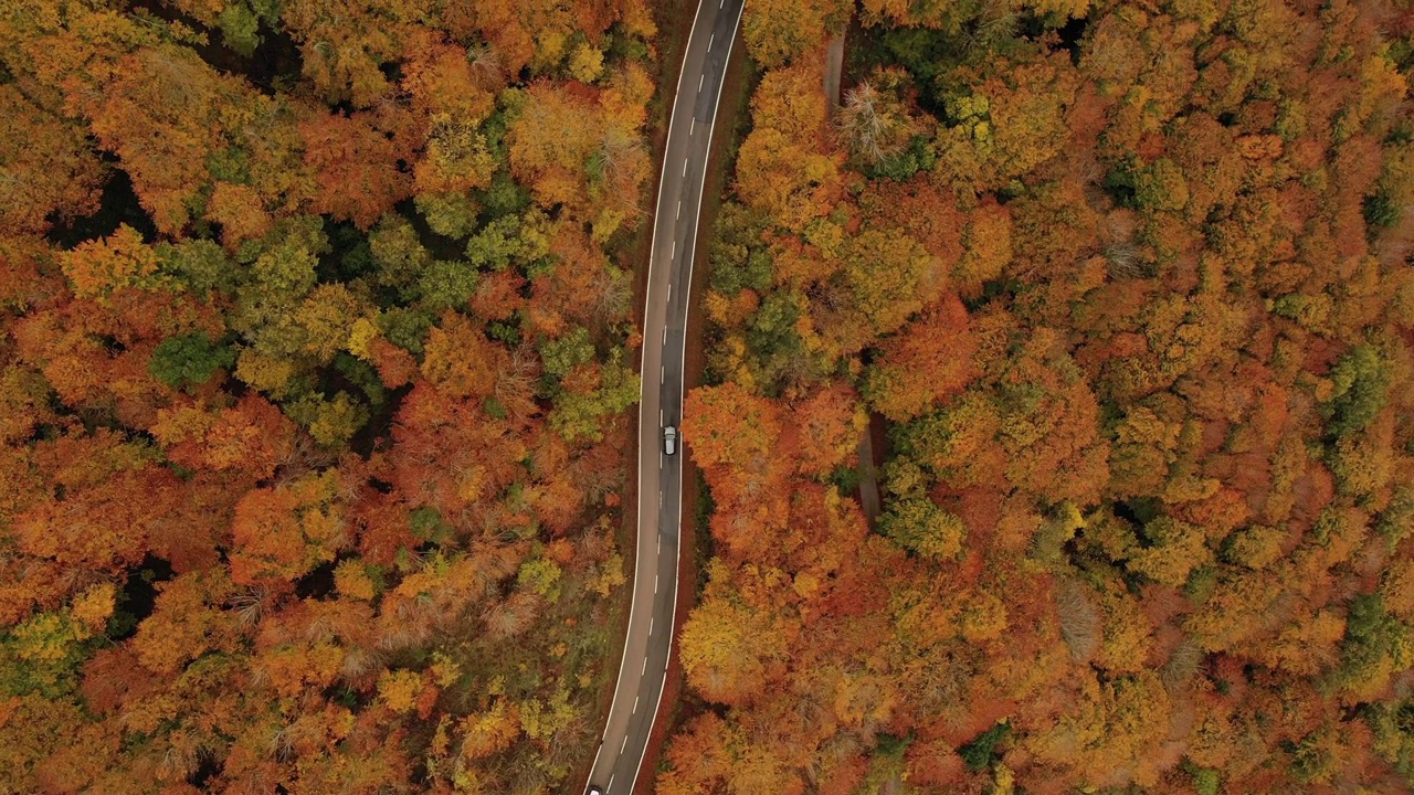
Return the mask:
<path id="1" fill-rule="evenodd" d="M 867 0 L 831 115 L 831 13 L 747 10 L 659 792 L 1408 789 L 1410 16 Z"/>

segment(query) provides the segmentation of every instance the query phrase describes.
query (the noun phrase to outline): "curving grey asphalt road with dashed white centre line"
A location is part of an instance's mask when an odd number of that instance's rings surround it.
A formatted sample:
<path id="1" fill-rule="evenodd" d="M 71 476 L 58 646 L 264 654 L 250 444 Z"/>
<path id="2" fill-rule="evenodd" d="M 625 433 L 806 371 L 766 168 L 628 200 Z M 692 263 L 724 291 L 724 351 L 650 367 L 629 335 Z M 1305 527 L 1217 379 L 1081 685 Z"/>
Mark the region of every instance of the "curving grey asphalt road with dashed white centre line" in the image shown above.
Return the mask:
<path id="1" fill-rule="evenodd" d="M 663 454 L 663 426 L 683 414 L 687 298 L 707 156 L 723 74 L 744 0 L 699 0 L 677 76 L 659 178 L 643 311 L 643 386 L 638 407 L 638 545 L 633 603 L 608 726 L 588 785 L 629 795 L 663 697 L 677 607 L 683 451 Z M 656 376 L 656 378 L 655 378 Z M 690 440 L 689 440 L 690 443 Z"/>

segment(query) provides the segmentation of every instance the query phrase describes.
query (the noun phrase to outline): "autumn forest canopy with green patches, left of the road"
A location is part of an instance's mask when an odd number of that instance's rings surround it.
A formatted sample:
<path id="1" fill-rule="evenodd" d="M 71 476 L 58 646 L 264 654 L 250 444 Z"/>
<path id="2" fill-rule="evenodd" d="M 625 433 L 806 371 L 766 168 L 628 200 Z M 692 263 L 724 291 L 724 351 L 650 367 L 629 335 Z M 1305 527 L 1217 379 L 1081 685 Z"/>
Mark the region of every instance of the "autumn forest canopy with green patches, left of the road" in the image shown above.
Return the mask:
<path id="1" fill-rule="evenodd" d="M 0 791 L 566 787 L 650 8 L 0 17 Z"/>

